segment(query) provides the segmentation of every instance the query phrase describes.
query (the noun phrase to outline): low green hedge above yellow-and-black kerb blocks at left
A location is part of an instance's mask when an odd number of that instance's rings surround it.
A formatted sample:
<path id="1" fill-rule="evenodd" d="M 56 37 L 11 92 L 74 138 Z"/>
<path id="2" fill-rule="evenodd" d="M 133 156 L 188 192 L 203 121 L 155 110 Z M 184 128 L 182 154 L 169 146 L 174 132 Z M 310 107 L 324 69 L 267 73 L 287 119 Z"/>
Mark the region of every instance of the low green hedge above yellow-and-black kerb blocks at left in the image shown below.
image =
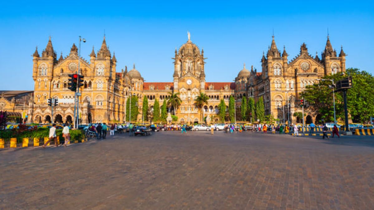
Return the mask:
<path id="1" fill-rule="evenodd" d="M 82 140 L 85 138 L 82 130 L 70 130 L 70 140 Z M 62 137 L 62 129 L 56 130 L 56 135 L 60 140 L 65 140 Z M 0 130 L 0 139 L 8 142 L 10 138 L 17 138 L 17 143 L 22 143 L 23 138 L 44 138 L 49 136 L 49 128 L 40 127 L 37 130 L 26 130 L 18 133 L 17 130 Z"/>

